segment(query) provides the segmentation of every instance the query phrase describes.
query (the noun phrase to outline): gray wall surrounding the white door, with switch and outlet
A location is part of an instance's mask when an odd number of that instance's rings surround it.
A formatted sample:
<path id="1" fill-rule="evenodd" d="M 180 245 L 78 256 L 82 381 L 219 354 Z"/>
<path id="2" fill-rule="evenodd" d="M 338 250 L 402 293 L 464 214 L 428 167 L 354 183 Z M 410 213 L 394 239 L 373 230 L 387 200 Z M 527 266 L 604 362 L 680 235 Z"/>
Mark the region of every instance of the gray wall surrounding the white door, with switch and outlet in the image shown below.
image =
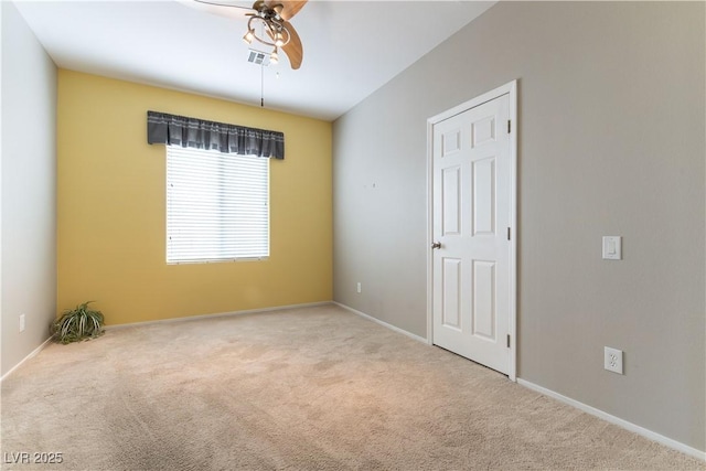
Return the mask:
<path id="1" fill-rule="evenodd" d="M 705 450 L 704 10 L 501 2 L 342 116 L 334 299 L 426 336 L 426 119 L 517 78 L 518 376 Z"/>

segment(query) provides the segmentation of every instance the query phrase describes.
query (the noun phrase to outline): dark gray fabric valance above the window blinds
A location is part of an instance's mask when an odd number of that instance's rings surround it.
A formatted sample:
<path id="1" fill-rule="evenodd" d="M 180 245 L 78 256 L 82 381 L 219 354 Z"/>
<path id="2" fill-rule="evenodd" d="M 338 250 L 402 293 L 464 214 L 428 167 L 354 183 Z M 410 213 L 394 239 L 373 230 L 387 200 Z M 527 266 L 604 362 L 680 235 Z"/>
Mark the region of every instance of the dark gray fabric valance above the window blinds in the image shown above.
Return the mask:
<path id="1" fill-rule="evenodd" d="M 285 158 L 285 133 L 147 111 L 147 142 Z"/>

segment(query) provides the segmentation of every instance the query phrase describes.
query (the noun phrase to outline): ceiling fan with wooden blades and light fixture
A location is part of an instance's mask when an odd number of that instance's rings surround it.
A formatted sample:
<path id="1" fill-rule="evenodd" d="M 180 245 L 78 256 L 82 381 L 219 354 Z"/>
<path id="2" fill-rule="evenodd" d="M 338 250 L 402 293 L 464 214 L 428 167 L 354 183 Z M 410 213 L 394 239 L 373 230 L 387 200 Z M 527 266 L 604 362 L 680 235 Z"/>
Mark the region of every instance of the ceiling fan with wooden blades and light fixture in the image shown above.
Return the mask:
<path id="1" fill-rule="evenodd" d="M 289 22 L 308 0 L 257 0 L 252 8 L 225 0 L 191 0 L 192 7 L 201 8 L 211 13 L 233 17 L 232 9 L 247 10 L 247 32 L 243 41 L 247 44 L 257 41 L 272 47 L 269 60 L 271 64 L 279 62 L 278 52 L 281 50 L 289 58 L 291 68 L 297 69 L 303 60 L 303 46 L 297 30 Z"/>

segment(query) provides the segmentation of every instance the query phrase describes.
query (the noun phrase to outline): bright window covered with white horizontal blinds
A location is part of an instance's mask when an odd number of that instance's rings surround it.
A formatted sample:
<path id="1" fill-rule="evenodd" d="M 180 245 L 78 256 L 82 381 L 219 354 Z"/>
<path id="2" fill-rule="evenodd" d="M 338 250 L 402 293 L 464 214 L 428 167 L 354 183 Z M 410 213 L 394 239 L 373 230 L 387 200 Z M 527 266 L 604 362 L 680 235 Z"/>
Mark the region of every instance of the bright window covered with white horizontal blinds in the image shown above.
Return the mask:
<path id="1" fill-rule="evenodd" d="M 167 146 L 167 263 L 269 256 L 269 159 Z"/>

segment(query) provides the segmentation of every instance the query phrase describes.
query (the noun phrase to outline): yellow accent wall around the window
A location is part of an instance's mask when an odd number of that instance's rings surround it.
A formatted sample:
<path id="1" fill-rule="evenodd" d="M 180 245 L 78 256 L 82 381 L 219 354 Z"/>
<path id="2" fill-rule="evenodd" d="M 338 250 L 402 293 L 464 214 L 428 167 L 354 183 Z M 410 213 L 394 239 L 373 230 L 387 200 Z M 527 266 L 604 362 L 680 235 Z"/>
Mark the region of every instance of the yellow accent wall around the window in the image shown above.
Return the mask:
<path id="1" fill-rule="evenodd" d="M 270 257 L 167 265 L 165 150 L 147 110 L 285 132 L 270 162 Z M 58 71 L 57 308 L 107 324 L 332 299 L 331 124 Z"/>

